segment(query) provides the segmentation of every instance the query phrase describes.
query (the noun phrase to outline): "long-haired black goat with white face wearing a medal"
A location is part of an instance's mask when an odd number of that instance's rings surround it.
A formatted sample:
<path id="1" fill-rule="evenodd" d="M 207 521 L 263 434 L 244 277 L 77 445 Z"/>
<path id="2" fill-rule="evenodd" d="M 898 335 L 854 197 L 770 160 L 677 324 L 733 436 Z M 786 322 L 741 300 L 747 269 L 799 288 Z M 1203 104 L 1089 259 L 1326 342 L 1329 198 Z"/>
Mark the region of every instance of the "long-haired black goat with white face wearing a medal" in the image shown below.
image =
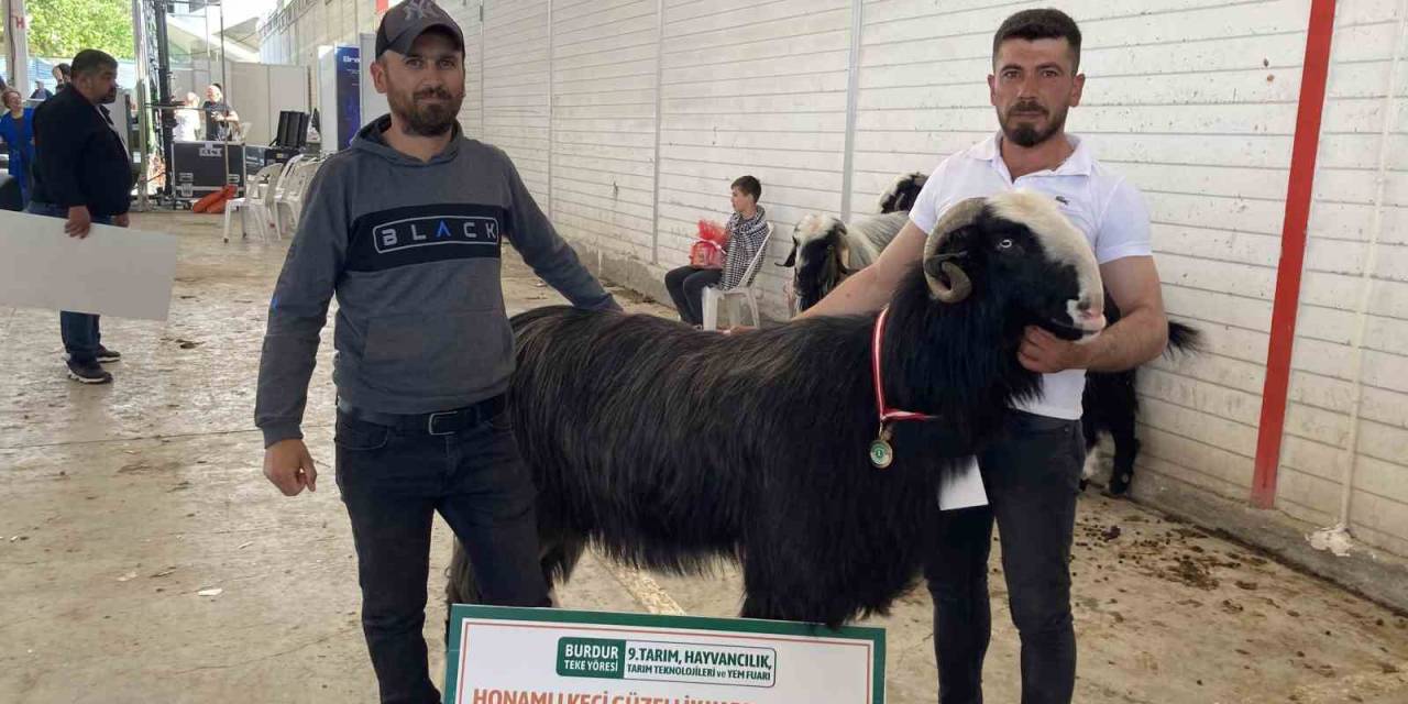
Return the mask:
<path id="1" fill-rule="evenodd" d="M 904 279 L 880 338 L 894 427 L 876 469 L 874 315 L 738 335 L 650 315 L 539 308 L 514 317 L 514 432 L 538 486 L 542 567 L 587 543 L 627 565 L 742 565 L 742 614 L 838 625 L 883 612 L 917 579 L 938 483 L 988 442 L 1039 376 L 1028 324 L 1074 339 L 1104 321 L 1084 237 L 1045 196 L 953 208 Z M 1091 313 L 1071 320 L 1071 310 Z M 477 598 L 456 542 L 446 597 Z"/>

